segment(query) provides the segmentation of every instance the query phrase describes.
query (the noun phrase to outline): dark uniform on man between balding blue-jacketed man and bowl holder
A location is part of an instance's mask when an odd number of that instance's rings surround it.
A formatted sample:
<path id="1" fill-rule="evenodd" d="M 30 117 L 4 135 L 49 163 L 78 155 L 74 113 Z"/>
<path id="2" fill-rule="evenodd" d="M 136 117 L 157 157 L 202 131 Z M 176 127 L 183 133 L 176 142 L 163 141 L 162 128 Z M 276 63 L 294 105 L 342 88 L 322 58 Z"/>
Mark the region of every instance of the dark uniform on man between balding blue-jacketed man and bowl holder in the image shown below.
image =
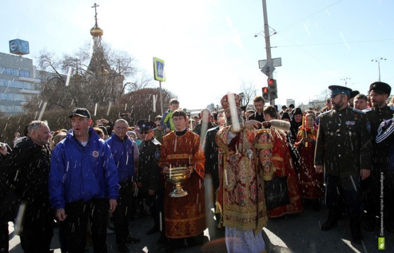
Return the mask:
<path id="1" fill-rule="evenodd" d="M 148 205 L 153 216 L 155 223 L 153 231 L 159 231 L 160 229 L 160 212 L 163 214 L 164 207 L 164 183 L 160 181 L 160 168 L 158 167 L 160 146 L 160 142 L 154 137 L 151 141 L 141 142 L 139 146 L 139 169 L 136 177 L 136 181 L 142 184 L 141 190 L 146 197 L 146 205 Z M 155 195 L 148 195 L 148 190 L 154 190 Z"/>

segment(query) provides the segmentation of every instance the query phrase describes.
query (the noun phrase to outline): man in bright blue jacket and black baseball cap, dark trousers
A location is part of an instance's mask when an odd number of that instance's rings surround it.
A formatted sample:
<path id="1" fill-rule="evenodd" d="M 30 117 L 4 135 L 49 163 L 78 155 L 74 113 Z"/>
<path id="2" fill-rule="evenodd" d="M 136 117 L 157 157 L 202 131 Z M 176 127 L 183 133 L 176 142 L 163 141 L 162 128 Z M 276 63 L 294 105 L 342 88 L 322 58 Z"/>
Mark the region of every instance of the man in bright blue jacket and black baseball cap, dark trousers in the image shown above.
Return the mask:
<path id="1" fill-rule="evenodd" d="M 107 216 L 115 211 L 119 185 L 110 147 L 94 129 L 90 113 L 77 108 L 72 130 L 56 145 L 49 174 L 49 197 L 64 222 L 69 252 L 84 252 L 88 217 L 94 252 L 107 252 Z"/>

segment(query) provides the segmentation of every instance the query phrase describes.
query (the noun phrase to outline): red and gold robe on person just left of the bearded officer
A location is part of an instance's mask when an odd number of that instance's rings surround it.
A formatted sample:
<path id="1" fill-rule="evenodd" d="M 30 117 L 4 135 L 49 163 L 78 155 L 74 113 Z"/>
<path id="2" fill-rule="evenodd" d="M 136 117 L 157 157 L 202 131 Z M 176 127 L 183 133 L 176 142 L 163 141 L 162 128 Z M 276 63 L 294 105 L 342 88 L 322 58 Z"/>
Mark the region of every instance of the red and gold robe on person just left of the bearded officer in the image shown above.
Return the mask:
<path id="1" fill-rule="evenodd" d="M 300 143 L 301 139 L 305 137 L 305 131 L 308 137 L 311 137 L 312 142 L 308 141 Z M 295 146 L 300 153 L 300 160 L 298 162 L 298 184 L 300 186 L 301 197 L 307 199 L 317 199 L 324 195 L 324 181 L 323 174 L 316 173 L 314 169 L 314 143 L 316 141 L 317 131 L 315 129 L 300 129 L 298 130 L 297 138 L 295 139 Z"/>

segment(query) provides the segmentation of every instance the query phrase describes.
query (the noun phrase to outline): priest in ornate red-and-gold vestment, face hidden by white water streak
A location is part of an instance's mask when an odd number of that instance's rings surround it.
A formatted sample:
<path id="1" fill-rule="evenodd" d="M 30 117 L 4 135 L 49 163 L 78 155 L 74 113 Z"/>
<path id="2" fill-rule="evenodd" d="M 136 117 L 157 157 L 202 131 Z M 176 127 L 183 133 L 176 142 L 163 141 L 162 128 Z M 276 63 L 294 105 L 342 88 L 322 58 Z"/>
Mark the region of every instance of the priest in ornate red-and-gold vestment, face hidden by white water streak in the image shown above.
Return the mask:
<path id="1" fill-rule="evenodd" d="M 266 252 L 262 228 L 267 225 L 262 171 L 255 166 L 253 147 L 257 120 L 243 122 L 241 98 L 228 93 L 220 101 L 227 126 L 217 132 L 220 152 L 220 188 L 217 211 L 225 226 L 227 252 Z"/>

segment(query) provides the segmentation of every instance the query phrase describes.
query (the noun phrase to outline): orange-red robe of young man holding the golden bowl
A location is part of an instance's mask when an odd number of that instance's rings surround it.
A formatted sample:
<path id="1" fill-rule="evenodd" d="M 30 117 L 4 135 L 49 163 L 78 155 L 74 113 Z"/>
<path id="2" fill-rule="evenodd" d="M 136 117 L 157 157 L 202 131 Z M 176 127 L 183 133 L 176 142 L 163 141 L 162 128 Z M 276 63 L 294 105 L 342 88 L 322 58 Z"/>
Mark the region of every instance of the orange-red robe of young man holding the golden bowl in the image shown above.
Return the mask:
<path id="1" fill-rule="evenodd" d="M 200 144 L 200 136 L 187 130 L 183 136 L 174 131 L 163 136 L 160 150 L 159 166 L 189 167 L 195 169 L 191 177 L 182 183 L 182 188 L 189 193 L 184 197 L 170 197 L 173 185 L 165 183 L 164 221 L 165 236 L 168 238 L 188 238 L 202 233 L 205 222 L 204 197 L 205 156 Z"/>

